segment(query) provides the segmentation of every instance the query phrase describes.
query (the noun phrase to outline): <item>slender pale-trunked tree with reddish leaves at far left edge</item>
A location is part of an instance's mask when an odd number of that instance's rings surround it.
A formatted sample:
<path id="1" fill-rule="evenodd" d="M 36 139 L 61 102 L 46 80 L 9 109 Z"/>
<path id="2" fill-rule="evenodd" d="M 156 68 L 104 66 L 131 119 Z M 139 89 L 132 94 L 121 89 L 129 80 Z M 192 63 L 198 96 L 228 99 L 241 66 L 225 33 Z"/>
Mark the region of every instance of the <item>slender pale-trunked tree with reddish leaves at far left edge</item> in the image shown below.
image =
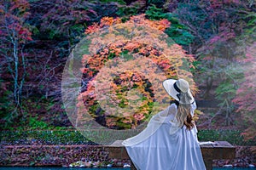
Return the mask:
<path id="1" fill-rule="evenodd" d="M 29 17 L 30 6 L 26 0 L 1 1 L 0 5 L 0 41 L 1 41 L 1 70 L 9 72 L 12 86 L 11 101 L 15 105 L 15 110 L 9 114 L 14 116 L 21 105 L 21 93 L 26 80 L 26 42 L 32 41 L 32 33 L 26 19 Z"/>

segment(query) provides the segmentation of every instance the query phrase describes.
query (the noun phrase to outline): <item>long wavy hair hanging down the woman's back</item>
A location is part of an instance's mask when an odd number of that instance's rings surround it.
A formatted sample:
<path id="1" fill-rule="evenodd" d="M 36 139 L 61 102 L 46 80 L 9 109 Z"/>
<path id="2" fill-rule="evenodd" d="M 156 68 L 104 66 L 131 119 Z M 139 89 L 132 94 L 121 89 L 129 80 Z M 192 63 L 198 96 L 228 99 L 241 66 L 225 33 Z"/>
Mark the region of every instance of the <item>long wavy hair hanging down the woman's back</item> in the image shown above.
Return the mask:
<path id="1" fill-rule="evenodd" d="M 189 104 L 179 104 L 177 107 L 177 122 L 179 127 L 185 125 L 187 129 L 191 130 L 195 126 L 195 122 L 191 116 L 191 105 Z"/>

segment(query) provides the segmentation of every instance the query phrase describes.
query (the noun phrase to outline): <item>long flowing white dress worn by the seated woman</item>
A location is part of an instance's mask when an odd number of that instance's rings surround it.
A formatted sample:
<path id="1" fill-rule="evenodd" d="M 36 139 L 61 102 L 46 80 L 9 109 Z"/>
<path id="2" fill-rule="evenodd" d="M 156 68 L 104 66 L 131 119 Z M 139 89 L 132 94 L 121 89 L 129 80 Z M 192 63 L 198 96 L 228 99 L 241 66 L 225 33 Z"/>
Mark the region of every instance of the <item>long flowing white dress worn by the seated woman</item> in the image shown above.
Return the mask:
<path id="1" fill-rule="evenodd" d="M 191 105 L 194 115 L 195 102 Z M 177 127 L 177 105 L 154 115 L 142 133 L 122 143 L 138 170 L 206 170 L 197 129 Z"/>

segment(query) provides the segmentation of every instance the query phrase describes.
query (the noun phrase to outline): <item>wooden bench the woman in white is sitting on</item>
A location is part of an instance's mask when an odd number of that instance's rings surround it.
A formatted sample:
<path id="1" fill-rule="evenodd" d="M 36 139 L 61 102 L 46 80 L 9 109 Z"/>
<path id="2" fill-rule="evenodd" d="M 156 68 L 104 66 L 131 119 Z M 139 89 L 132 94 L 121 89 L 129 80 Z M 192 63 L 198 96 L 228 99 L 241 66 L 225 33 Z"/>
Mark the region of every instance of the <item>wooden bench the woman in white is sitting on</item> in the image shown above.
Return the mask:
<path id="1" fill-rule="evenodd" d="M 113 144 L 108 145 L 109 158 L 130 159 L 122 145 L 123 140 L 116 140 Z M 215 144 L 201 145 L 201 153 L 205 161 L 207 170 L 212 170 L 212 160 L 234 159 L 236 157 L 236 148 L 226 141 L 215 141 Z M 131 161 L 131 169 L 136 169 Z"/>

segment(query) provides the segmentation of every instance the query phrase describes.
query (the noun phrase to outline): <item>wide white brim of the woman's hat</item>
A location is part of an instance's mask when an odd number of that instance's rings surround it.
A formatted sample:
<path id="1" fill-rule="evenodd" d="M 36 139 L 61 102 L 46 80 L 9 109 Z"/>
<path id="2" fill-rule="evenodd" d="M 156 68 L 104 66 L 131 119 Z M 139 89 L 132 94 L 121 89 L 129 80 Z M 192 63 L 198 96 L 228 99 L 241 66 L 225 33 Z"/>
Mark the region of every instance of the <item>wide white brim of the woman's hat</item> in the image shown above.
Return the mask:
<path id="1" fill-rule="evenodd" d="M 162 82 L 163 87 L 166 90 L 166 93 L 169 94 L 173 99 L 176 99 L 177 101 L 179 101 L 179 99 L 177 98 L 177 94 L 179 94 L 176 89 L 173 87 L 173 84 L 177 82 L 177 80 L 175 79 L 166 79 L 164 82 Z M 190 104 L 192 104 L 194 102 L 194 97 L 190 92 L 190 89 L 188 91 L 189 96 L 191 96 L 191 99 L 189 100 Z"/>

